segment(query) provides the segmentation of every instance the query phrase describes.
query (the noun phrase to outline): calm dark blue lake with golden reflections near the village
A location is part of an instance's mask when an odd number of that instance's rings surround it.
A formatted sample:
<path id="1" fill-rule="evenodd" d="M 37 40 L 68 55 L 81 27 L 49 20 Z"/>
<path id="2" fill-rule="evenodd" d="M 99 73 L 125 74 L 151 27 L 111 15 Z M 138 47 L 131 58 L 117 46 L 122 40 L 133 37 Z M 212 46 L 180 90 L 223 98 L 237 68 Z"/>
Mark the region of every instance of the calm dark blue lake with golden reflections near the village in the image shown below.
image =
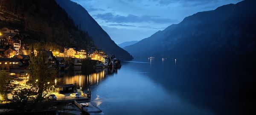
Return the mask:
<path id="1" fill-rule="evenodd" d="M 248 112 L 240 79 L 247 71 L 155 58 L 122 62 L 120 69 L 92 74 L 66 73 L 61 79 L 90 88 L 91 102 L 106 115 L 235 115 Z"/>

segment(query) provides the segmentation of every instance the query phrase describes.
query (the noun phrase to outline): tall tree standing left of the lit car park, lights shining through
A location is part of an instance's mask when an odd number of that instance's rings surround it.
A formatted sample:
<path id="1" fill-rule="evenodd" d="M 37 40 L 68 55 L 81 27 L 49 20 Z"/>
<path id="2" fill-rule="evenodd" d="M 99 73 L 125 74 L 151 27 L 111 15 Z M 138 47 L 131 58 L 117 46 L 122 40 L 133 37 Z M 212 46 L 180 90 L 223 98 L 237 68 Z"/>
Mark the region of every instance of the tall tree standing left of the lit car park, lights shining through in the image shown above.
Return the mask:
<path id="1" fill-rule="evenodd" d="M 47 60 L 46 54 L 42 51 L 42 47 L 38 46 L 36 56 L 32 56 L 29 62 L 31 79 L 29 83 L 38 89 L 35 102 L 43 101 L 47 95 L 47 89 L 54 84 L 57 75 L 54 67 L 50 67 L 51 61 Z"/>

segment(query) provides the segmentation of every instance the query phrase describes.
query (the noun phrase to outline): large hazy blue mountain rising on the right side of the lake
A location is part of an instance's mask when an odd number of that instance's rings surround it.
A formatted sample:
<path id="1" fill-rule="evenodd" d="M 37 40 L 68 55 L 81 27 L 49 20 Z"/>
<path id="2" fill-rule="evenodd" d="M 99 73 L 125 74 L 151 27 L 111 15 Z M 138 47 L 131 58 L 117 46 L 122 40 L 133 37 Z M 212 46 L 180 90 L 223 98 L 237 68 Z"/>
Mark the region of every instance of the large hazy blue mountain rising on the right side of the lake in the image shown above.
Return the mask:
<path id="1" fill-rule="evenodd" d="M 124 49 L 134 57 L 252 59 L 256 57 L 255 6 L 255 0 L 244 0 L 198 12 Z"/>

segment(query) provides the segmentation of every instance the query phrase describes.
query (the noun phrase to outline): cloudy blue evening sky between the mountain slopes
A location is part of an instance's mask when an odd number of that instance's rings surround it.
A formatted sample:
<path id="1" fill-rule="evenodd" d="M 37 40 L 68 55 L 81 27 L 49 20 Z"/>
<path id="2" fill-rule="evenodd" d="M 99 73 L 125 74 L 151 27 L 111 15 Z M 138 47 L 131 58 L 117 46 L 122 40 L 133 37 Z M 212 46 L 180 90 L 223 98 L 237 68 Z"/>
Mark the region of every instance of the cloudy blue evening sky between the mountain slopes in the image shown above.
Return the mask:
<path id="1" fill-rule="evenodd" d="M 72 0 L 83 6 L 115 43 L 142 40 L 183 18 L 242 0 Z"/>

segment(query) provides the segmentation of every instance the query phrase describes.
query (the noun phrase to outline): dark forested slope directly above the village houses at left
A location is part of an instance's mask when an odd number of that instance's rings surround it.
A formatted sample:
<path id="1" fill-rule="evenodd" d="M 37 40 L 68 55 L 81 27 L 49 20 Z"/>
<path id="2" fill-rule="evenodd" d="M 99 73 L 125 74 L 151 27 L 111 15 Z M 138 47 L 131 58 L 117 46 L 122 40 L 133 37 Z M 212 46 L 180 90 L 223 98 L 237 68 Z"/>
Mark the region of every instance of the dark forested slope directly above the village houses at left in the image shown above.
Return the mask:
<path id="1" fill-rule="evenodd" d="M 47 49 L 94 47 L 55 0 L 0 0 L 0 28 L 20 30 L 22 42 L 44 43 Z"/>

